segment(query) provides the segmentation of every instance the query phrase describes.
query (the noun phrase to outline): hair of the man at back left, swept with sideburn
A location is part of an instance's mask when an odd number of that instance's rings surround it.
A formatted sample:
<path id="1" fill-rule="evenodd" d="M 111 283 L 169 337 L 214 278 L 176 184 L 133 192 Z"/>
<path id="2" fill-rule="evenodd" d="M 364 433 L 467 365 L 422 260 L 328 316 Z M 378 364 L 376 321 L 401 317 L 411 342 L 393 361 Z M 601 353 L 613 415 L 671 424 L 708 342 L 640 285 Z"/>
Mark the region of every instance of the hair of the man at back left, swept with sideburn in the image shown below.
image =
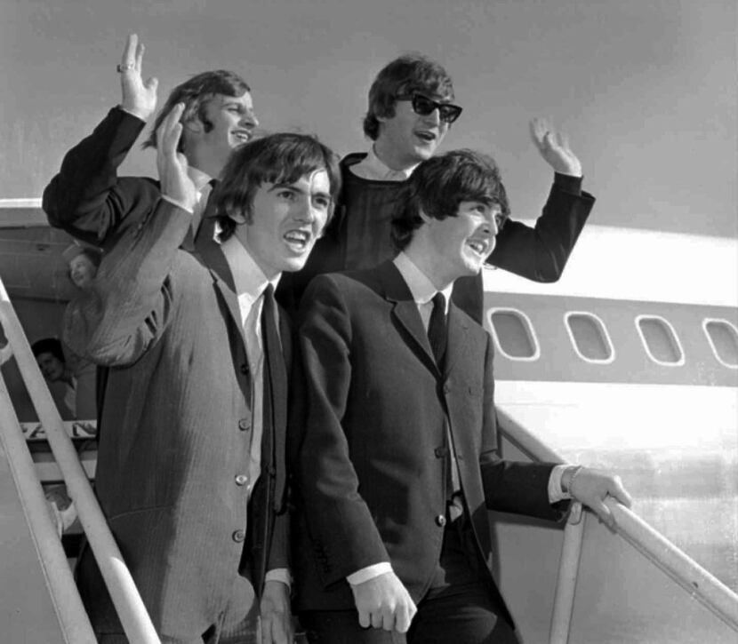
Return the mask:
<path id="1" fill-rule="evenodd" d="M 177 103 L 185 104 L 180 123 L 186 123 L 197 116 L 205 124 L 205 131 L 210 131 L 213 125 L 207 121 L 206 109 L 208 102 L 216 94 L 241 96 L 245 91 L 251 91 L 245 80 L 227 69 L 216 69 L 212 72 L 203 72 L 197 74 L 197 76 L 192 76 L 189 80 L 177 85 L 169 94 L 164 107 L 156 115 L 148 139 L 143 142 L 142 147 L 156 147 L 156 130 Z M 180 152 L 183 151 L 183 146 L 184 138 L 180 138 Z"/>

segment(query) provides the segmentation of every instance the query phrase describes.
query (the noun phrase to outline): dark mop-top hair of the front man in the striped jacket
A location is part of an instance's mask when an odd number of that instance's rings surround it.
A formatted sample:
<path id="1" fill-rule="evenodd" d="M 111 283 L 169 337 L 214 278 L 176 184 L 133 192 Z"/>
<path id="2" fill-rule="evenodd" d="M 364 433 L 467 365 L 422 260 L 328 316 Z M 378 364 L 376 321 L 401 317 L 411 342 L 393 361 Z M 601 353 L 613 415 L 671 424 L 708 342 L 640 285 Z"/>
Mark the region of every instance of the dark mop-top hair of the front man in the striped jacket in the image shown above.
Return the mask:
<path id="1" fill-rule="evenodd" d="M 247 222 L 251 221 L 253 196 L 262 183 L 290 184 L 320 169 L 327 171 L 331 185 L 330 221 L 341 192 L 341 171 L 338 156 L 317 137 L 280 132 L 237 147 L 230 155 L 213 195 L 221 239 L 228 239 L 233 234 L 237 226 L 233 217 L 244 215 Z"/>

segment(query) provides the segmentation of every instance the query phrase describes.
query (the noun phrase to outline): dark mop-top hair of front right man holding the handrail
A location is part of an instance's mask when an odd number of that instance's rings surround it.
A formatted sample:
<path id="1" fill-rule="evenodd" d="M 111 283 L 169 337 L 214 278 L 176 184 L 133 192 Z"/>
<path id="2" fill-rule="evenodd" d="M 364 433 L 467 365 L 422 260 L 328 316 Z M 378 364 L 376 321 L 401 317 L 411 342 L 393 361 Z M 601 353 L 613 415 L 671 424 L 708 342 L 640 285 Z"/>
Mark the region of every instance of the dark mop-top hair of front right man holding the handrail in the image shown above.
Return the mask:
<path id="1" fill-rule="evenodd" d="M 491 156 L 452 150 L 423 161 L 407 179 L 392 218 L 392 242 L 403 250 L 423 224 L 421 211 L 434 219 L 455 217 L 461 202 L 497 204 L 509 217 L 508 195 Z"/>

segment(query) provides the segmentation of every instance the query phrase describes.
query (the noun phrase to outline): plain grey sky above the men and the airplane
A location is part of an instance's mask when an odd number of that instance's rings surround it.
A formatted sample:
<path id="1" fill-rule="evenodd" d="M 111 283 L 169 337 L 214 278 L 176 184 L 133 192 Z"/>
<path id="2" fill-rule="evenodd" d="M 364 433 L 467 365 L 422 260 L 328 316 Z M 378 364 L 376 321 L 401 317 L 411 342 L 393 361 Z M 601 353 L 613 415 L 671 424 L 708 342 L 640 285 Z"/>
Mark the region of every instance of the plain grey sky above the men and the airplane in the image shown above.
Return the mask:
<path id="1" fill-rule="evenodd" d="M 528 135 L 569 135 L 598 199 L 591 223 L 738 238 L 735 0 L 0 0 L 0 198 L 33 198 L 120 100 L 129 32 L 160 104 L 187 76 L 232 68 L 269 131 L 367 149 L 373 76 L 407 51 L 453 77 L 464 107 L 441 149 L 495 157 L 513 216 L 552 179 Z M 136 147 L 122 171 L 155 174 Z"/>

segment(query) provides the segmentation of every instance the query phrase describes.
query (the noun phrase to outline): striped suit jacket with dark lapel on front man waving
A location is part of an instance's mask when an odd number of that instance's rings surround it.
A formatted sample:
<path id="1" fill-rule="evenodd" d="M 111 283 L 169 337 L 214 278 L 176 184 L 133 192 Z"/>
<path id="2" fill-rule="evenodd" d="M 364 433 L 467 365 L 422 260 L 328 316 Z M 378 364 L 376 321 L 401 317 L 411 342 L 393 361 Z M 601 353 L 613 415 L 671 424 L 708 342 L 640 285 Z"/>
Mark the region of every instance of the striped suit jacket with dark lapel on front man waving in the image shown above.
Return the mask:
<path id="1" fill-rule="evenodd" d="M 245 613 L 253 589 L 242 564 L 256 592 L 266 569 L 287 566 L 285 426 L 268 441 L 265 424 L 262 446 L 272 450 L 262 453 L 247 521 L 236 477 L 246 473 L 252 418 L 237 296 L 217 244 L 202 244 L 200 256 L 179 249 L 189 224 L 162 200 L 126 227 L 94 290 L 65 319 L 71 348 L 111 368 L 97 494 L 156 629 L 169 637 L 205 632 L 229 601 Z M 79 584 L 96 631 L 116 631 L 89 556 Z"/>

